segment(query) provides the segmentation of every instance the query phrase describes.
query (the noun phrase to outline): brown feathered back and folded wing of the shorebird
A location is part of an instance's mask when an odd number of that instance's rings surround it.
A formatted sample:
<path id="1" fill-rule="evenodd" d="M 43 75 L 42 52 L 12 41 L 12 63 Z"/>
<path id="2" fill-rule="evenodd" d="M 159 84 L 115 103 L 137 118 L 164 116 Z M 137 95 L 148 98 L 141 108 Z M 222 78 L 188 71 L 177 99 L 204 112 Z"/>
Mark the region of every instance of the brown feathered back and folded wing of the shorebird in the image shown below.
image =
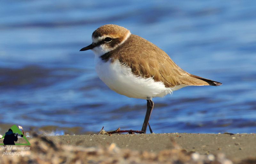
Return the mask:
<path id="1" fill-rule="evenodd" d="M 191 76 L 177 66 L 163 50 L 137 35 L 131 35 L 121 46 L 113 50 L 109 57 L 127 64 L 133 74 L 146 78 L 153 77 L 156 82 L 164 82 L 166 87 L 180 84 L 210 85 L 197 78 L 199 76 Z"/>

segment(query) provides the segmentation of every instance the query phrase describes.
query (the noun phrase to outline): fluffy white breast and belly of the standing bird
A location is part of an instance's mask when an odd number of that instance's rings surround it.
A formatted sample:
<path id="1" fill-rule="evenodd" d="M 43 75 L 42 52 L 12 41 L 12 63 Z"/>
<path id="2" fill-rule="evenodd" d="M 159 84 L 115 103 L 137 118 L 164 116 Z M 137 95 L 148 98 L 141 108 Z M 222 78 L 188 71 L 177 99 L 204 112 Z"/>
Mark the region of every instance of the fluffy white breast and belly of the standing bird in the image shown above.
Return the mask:
<path id="1" fill-rule="evenodd" d="M 133 98 L 151 99 L 172 93 L 174 88 L 166 88 L 163 82 L 153 78 L 142 78 L 132 74 L 131 68 L 118 60 L 102 61 L 95 56 L 95 68 L 100 79 L 117 93 Z"/>

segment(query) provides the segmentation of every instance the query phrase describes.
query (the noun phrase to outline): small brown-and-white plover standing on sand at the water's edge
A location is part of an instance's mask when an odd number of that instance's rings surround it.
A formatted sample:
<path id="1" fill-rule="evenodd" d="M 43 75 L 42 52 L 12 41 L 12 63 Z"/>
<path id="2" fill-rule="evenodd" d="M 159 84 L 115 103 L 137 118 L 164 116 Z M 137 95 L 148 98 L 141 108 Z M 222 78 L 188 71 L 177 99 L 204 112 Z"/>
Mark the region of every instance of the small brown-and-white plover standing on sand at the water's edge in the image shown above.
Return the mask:
<path id="1" fill-rule="evenodd" d="M 152 98 L 172 94 L 187 86 L 222 83 L 189 74 L 158 46 L 119 25 L 102 25 L 92 33 L 92 50 L 99 78 L 118 94 L 147 100 L 141 131 L 146 133 L 154 108 Z"/>

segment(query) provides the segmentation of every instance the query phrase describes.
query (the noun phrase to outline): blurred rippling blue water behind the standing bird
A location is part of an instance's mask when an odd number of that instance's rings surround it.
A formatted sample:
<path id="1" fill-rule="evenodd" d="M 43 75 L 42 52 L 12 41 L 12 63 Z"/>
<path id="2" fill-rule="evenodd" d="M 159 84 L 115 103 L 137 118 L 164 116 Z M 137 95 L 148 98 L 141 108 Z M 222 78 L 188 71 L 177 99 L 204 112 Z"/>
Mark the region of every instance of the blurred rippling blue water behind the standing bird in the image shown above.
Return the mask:
<path id="1" fill-rule="evenodd" d="M 0 134 L 140 130 L 146 100 L 118 95 L 94 69 L 92 32 L 117 24 L 163 49 L 187 72 L 220 87 L 154 98 L 155 133 L 256 131 L 256 1 L 0 2 Z"/>

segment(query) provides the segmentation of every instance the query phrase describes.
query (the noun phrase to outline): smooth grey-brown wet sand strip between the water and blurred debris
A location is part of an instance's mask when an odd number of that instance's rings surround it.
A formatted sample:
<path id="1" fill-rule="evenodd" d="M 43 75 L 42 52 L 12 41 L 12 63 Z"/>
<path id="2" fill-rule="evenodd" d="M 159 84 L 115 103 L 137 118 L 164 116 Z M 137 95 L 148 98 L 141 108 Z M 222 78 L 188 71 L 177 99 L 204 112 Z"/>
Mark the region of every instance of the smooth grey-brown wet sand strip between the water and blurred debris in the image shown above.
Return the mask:
<path id="1" fill-rule="evenodd" d="M 112 134 L 64 135 L 49 139 L 64 145 L 82 147 L 117 147 L 136 151 L 159 153 L 166 149 L 184 149 L 187 152 L 217 155 L 224 153 L 232 161 L 256 159 L 256 135 L 253 134 Z M 21 140 L 20 140 L 21 141 Z"/>

